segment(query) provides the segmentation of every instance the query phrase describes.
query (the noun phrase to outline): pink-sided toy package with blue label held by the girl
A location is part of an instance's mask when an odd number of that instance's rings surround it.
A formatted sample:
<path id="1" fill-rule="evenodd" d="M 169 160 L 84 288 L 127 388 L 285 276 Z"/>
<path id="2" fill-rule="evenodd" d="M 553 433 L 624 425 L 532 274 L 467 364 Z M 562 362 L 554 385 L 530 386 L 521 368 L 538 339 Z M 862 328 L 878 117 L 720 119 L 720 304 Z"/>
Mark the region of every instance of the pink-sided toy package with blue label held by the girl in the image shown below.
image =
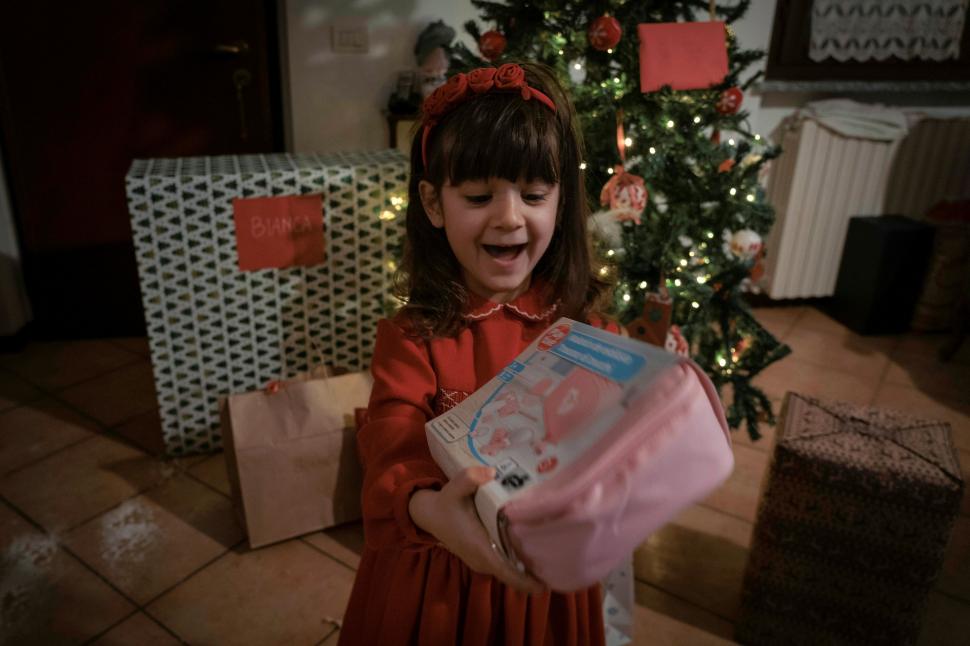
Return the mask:
<path id="1" fill-rule="evenodd" d="M 566 318 L 425 428 L 449 477 L 495 467 L 475 497 L 483 524 L 560 591 L 605 577 L 734 464 L 696 364 Z"/>

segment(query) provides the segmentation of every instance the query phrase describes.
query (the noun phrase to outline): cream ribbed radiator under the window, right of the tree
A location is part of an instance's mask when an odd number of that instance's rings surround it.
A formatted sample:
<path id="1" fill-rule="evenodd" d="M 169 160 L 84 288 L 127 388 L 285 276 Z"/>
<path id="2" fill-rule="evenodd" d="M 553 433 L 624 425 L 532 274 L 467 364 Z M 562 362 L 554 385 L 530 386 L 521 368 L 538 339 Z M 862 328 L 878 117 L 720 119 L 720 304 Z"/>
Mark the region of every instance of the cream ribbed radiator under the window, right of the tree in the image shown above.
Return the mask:
<path id="1" fill-rule="evenodd" d="M 970 198 L 970 119 L 923 119 L 895 142 L 844 137 L 789 117 L 766 193 L 776 220 L 763 287 L 771 298 L 831 296 L 849 218 L 922 218 L 941 199 Z"/>

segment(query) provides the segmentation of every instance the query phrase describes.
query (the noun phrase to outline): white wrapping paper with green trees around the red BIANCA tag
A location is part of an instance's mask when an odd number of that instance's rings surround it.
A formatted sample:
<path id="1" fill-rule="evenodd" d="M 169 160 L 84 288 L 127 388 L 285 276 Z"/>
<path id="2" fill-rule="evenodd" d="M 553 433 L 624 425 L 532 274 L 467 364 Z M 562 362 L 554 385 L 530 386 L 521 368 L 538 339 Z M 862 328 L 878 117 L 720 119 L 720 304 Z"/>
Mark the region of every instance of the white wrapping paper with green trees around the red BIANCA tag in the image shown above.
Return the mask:
<path id="1" fill-rule="evenodd" d="M 220 397 L 320 365 L 365 370 L 406 198 L 397 150 L 135 160 L 126 177 L 166 450 L 221 448 Z M 232 200 L 321 193 L 326 261 L 240 271 Z"/>

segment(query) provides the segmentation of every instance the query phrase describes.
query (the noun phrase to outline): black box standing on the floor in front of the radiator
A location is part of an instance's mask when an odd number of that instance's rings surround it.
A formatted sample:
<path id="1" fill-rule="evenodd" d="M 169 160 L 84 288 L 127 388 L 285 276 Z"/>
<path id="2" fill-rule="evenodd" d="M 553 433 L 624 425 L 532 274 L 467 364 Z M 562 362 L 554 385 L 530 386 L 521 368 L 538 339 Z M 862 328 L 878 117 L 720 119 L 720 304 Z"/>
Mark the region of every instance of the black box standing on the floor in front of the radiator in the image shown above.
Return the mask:
<path id="1" fill-rule="evenodd" d="M 901 215 L 851 218 L 828 307 L 832 317 L 859 334 L 909 330 L 934 232 Z"/>

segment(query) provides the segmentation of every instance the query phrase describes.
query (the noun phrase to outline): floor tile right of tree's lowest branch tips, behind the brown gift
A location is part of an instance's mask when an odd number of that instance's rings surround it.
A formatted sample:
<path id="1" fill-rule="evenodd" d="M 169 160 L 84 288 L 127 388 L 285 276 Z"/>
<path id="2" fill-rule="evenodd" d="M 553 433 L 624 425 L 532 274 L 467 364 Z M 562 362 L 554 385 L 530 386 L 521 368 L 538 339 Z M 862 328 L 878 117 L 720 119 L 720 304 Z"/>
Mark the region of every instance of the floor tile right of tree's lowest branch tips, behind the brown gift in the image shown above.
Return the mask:
<path id="1" fill-rule="evenodd" d="M 819 399 L 868 404 L 878 381 L 832 370 L 795 357 L 768 366 L 754 384 L 771 399 L 783 399 L 788 391 Z"/>

